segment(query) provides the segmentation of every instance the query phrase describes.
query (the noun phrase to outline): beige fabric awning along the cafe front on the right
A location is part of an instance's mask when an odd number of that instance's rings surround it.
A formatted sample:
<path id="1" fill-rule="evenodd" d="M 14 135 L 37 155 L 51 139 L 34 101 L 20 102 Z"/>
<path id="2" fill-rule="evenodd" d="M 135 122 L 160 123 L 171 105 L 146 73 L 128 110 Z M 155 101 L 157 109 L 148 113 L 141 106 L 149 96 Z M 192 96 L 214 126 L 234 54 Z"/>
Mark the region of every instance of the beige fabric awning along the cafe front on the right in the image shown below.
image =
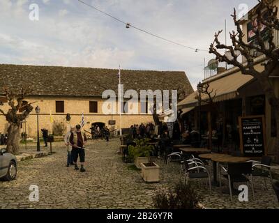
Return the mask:
<path id="1" fill-rule="evenodd" d="M 252 79 L 253 77 L 250 75 L 243 75 L 241 72 L 236 72 L 232 75 L 221 77 L 209 82 L 209 92 L 213 92 L 211 93 L 212 96 L 216 93 L 214 102 L 232 100 L 239 95 L 239 89 L 248 84 L 248 82 L 252 81 Z M 185 107 L 190 108 L 197 106 L 197 94 L 198 93 L 196 91 L 189 95 L 187 98 L 179 102 L 178 107 L 181 109 Z M 208 95 L 206 94 L 202 94 L 201 96 L 203 100 L 208 98 Z"/>

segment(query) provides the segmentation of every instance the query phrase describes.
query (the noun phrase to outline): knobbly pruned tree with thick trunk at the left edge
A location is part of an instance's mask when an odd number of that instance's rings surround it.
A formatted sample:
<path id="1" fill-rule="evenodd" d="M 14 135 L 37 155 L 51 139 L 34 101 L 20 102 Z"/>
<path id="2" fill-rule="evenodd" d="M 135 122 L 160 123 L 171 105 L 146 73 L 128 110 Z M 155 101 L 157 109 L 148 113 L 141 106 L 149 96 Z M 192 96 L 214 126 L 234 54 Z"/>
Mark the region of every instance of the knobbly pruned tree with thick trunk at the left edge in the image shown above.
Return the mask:
<path id="1" fill-rule="evenodd" d="M 20 148 L 20 124 L 33 110 L 32 103 L 27 102 L 24 98 L 32 93 L 32 89 L 23 87 L 20 92 L 15 93 L 5 87 L 3 91 L 10 106 L 6 113 L 0 109 L 1 114 L 6 117 L 6 121 L 9 123 L 7 150 L 9 153 L 17 154 Z M 23 112 L 20 113 L 20 110 Z"/>

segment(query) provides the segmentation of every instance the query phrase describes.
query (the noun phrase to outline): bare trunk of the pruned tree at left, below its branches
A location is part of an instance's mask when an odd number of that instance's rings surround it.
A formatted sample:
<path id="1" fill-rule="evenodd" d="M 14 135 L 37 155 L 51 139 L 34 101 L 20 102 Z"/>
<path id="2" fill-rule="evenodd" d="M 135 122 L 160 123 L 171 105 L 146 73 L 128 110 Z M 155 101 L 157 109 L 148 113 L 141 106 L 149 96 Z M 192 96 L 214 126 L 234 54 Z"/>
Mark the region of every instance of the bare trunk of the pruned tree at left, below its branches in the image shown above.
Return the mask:
<path id="1" fill-rule="evenodd" d="M 10 123 L 8 128 L 8 153 L 18 154 L 20 150 L 20 126 Z"/>

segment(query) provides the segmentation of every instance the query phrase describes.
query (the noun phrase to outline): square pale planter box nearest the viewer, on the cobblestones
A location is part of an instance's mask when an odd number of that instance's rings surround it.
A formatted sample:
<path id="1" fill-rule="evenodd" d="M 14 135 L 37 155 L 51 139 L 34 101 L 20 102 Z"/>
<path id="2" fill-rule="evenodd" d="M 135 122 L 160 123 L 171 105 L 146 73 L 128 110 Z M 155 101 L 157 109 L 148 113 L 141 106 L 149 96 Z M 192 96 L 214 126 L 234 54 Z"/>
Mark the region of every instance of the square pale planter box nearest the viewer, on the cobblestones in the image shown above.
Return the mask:
<path id="1" fill-rule="evenodd" d="M 150 167 L 148 163 L 142 163 L 142 178 L 146 183 L 158 183 L 160 181 L 160 167 L 153 162 Z"/>

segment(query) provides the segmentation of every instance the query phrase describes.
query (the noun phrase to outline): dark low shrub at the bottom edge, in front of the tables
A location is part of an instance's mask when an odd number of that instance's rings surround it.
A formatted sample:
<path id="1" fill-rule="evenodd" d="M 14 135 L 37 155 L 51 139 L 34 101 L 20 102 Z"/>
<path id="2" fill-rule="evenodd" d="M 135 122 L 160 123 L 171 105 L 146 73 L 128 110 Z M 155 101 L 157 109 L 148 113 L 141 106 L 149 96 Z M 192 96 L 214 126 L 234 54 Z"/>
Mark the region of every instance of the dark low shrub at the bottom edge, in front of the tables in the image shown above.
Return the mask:
<path id="1" fill-rule="evenodd" d="M 153 204 L 156 209 L 198 209 L 202 197 L 190 185 L 178 183 L 174 192 L 156 192 Z"/>

